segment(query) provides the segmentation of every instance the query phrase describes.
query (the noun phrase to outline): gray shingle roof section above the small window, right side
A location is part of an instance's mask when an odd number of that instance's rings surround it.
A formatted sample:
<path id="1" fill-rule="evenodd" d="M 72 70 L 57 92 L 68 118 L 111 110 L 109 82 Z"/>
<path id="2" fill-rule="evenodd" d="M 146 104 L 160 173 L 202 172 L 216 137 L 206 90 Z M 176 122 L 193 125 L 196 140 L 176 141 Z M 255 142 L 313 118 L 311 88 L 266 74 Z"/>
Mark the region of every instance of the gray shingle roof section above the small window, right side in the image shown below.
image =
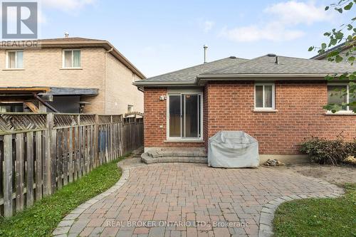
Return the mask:
<path id="1" fill-rule="evenodd" d="M 290 58 L 278 56 L 278 64 L 274 56 L 261 56 L 245 63 L 231 65 L 219 70 L 211 70 L 206 74 L 328 74 L 345 73 L 356 70 L 355 65 L 349 63 L 333 63 L 327 60 L 313 60 L 305 58 Z"/>

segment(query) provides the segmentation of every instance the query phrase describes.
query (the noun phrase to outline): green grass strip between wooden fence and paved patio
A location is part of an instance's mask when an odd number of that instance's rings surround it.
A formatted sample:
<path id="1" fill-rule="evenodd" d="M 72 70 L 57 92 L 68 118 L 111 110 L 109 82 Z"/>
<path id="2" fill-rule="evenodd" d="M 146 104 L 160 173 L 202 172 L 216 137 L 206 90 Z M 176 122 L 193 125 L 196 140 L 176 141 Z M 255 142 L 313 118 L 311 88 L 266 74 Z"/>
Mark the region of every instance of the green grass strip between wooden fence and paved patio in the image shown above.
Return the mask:
<path id="1" fill-rule="evenodd" d="M 127 156 L 125 156 L 127 157 Z M 77 206 L 114 185 L 121 177 L 120 157 L 93 169 L 52 196 L 11 218 L 0 219 L 0 236 L 51 236 L 61 219 Z"/>

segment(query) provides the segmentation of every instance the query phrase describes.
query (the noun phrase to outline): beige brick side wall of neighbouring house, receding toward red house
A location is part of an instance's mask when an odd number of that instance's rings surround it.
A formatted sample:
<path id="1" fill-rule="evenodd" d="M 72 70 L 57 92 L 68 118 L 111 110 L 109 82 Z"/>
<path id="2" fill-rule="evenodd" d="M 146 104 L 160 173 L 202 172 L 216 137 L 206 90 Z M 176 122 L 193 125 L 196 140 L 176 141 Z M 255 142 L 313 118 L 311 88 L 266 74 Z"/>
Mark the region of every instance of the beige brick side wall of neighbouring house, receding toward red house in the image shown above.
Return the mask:
<path id="1" fill-rule="evenodd" d="M 133 111 L 143 112 L 143 93 L 132 85 L 140 78 L 110 53 L 106 53 L 105 73 L 105 112 L 125 114 L 127 105 L 133 105 Z"/>

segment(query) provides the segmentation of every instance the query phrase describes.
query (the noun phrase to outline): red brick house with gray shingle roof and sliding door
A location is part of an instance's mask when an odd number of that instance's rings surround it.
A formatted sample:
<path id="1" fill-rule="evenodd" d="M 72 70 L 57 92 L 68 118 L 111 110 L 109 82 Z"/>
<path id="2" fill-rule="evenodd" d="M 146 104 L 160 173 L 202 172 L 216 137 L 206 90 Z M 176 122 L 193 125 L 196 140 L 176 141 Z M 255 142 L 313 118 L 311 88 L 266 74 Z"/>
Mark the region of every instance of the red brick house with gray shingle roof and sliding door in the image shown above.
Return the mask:
<path id="1" fill-rule="evenodd" d="M 261 161 L 299 159 L 299 144 L 311 136 L 356 137 L 350 107 L 333 114 L 328 102 L 347 102 L 328 83 L 328 73 L 355 71 L 347 63 L 268 54 L 234 56 L 135 82 L 145 92 L 145 151 L 162 147 L 207 147 L 221 130 L 243 130 L 259 143 Z"/>

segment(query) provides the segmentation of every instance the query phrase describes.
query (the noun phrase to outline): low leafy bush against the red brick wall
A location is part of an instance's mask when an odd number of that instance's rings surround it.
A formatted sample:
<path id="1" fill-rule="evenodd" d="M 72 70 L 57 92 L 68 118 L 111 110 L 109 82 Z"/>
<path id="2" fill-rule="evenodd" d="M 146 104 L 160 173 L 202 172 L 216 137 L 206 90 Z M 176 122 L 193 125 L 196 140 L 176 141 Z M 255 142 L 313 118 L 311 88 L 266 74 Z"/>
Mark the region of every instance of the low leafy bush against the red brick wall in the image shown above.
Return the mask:
<path id="1" fill-rule="evenodd" d="M 301 144 L 300 151 L 314 163 L 340 164 L 348 156 L 356 156 L 356 139 L 346 142 L 341 135 L 336 139 L 312 137 Z"/>

